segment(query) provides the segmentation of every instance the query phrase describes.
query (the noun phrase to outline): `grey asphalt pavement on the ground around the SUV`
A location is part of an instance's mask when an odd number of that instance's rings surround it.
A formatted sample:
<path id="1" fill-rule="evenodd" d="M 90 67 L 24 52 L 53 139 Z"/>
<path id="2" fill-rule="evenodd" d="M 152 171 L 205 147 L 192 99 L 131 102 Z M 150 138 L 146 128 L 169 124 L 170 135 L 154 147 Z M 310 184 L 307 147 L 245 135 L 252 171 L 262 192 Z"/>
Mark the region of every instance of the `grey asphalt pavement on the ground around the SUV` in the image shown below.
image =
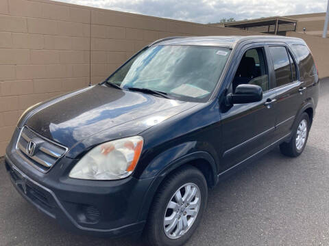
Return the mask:
<path id="1" fill-rule="evenodd" d="M 265 154 L 209 193 L 204 219 L 186 245 L 329 245 L 329 79 L 304 153 Z M 0 161 L 0 245 L 141 246 L 71 234 L 16 192 Z"/>

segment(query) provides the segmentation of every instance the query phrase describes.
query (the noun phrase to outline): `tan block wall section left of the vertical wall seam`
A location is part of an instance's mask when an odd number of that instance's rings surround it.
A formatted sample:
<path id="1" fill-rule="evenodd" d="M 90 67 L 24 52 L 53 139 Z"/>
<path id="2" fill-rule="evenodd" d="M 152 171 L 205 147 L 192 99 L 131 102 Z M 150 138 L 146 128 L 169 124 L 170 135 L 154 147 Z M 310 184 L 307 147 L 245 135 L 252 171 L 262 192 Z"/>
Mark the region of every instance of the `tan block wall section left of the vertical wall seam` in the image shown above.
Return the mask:
<path id="1" fill-rule="evenodd" d="M 87 86 L 90 10 L 0 0 L 0 156 L 30 105 Z"/>

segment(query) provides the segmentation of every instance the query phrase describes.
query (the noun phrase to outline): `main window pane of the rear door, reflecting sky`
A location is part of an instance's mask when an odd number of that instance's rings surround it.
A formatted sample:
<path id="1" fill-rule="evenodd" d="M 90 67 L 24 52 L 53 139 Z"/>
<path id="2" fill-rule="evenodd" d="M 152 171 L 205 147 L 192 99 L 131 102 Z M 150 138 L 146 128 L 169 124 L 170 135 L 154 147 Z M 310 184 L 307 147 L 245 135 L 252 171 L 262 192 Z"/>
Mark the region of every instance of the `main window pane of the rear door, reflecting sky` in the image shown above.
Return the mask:
<path id="1" fill-rule="evenodd" d="M 280 87 L 291 83 L 291 68 L 287 49 L 284 46 L 269 47 L 276 73 L 276 86 Z"/>

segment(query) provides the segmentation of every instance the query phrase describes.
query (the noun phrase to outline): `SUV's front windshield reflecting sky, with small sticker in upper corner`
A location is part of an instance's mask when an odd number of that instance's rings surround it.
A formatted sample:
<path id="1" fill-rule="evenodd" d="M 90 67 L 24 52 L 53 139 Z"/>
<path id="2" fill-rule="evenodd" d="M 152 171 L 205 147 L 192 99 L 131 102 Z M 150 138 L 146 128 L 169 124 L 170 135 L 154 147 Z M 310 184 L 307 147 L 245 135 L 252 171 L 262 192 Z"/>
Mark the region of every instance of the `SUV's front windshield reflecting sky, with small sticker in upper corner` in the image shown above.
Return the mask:
<path id="1" fill-rule="evenodd" d="M 151 46 L 107 80 L 121 88 L 163 92 L 178 100 L 206 101 L 215 89 L 230 49 L 209 46 Z"/>

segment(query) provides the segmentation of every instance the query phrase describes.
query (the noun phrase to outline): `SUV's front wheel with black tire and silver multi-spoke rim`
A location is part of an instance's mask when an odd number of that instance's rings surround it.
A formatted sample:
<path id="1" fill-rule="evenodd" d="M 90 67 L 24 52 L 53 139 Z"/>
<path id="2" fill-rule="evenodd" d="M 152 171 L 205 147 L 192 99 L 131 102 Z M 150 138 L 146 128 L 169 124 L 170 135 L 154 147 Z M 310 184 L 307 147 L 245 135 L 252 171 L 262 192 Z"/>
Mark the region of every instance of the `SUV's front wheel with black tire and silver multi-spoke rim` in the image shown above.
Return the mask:
<path id="1" fill-rule="evenodd" d="M 187 166 L 170 174 L 156 192 L 144 230 L 152 246 L 184 245 L 199 225 L 208 198 L 206 179 Z"/>

